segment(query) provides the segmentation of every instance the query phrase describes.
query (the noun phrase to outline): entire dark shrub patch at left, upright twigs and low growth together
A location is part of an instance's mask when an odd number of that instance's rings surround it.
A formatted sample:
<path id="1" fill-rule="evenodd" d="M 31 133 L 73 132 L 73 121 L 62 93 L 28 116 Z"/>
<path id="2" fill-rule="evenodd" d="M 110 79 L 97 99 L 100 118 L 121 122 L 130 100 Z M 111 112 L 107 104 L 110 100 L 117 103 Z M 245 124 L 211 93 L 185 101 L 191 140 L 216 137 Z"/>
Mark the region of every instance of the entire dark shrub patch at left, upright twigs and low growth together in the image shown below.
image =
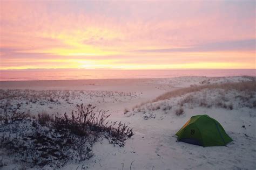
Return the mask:
<path id="1" fill-rule="evenodd" d="M 100 138 L 122 147 L 133 135 L 122 122 L 106 122 L 110 114 L 91 104 L 77 105 L 70 115 L 42 113 L 37 119 L 18 110 L 1 116 L 0 150 L 28 168 L 60 168 L 68 161 L 85 161 Z"/>

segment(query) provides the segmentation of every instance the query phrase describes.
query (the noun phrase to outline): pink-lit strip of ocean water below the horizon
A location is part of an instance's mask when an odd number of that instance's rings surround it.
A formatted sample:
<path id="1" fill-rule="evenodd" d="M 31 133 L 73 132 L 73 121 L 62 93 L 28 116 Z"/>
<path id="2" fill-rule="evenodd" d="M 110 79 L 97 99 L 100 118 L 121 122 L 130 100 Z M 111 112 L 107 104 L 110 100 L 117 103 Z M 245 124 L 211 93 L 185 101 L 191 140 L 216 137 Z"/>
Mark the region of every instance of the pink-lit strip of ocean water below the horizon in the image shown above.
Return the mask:
<path id="1" fill-rule="evenodd" d="M 145 79 L 178 76 L 256 76 L 256 69 L 169 69 L 169 70 L 111 70 L 111 69 L 27 69 L 0 70 L 0 81 L 18 80 L 81 80 L 81 79 Z"/>

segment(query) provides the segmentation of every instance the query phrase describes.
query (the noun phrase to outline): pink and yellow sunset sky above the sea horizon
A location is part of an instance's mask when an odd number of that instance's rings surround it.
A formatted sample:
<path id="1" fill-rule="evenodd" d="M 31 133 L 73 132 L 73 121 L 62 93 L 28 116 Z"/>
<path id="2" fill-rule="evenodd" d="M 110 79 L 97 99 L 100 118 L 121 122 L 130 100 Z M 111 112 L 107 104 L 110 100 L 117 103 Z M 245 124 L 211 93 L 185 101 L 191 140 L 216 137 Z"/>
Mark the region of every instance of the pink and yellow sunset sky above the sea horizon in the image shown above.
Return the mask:
<path id="1" fill-rule="evenodd" d="M 255 1 L 0 1 L 0 69 L 254 69 Z"/>

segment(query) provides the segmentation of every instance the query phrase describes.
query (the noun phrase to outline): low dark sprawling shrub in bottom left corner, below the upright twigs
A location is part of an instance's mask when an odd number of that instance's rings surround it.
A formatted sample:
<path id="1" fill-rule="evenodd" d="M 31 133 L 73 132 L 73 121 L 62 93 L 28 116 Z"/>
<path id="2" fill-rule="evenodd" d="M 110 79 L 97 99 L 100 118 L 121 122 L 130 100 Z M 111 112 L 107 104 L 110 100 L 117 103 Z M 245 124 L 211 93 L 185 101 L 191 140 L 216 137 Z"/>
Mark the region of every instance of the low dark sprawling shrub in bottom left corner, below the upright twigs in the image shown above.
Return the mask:
<path id="1" fill-rule="evenodd" d="M 55 169 L 71 160 L 80 162 L 92 157 L 91 148 L 88 147 L 89 137 L 44 128 L 37 120 L 30 119 L 5 124 L 0 129 L 6 128 L 9 131 L 5 131 L 1 139 L 1 150 L 14 156 L 17 163 L 25 163 L 29 168 L 41 169 L 48 165 Z"/>

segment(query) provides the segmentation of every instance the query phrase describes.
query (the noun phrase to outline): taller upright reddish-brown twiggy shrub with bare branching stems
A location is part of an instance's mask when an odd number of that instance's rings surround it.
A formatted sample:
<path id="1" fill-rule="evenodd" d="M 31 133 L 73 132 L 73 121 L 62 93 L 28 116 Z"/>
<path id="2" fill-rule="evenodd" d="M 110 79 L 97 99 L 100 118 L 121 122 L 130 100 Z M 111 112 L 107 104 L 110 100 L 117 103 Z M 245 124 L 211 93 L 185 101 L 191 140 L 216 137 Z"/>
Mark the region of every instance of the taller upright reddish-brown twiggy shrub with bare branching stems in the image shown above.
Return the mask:
<path id="1" fill-rule="evenodd" d="M 87 136 L 91 133 L 106 133 L 105 137 L 116 140 L 118 145 L 124 146 L 124 141 L 133 135 L 131 128 L 121 122 L 105 122 L 110 116 L 107 111 L 95 110 L 91 104 L 76 106 L 77 111 L 72 111 L 71 116 L 56 115 L 54 126 L 58 130 L 69 129 L 78 136 Z M 118 143 L 119 141 L 119 143 Z"/>

